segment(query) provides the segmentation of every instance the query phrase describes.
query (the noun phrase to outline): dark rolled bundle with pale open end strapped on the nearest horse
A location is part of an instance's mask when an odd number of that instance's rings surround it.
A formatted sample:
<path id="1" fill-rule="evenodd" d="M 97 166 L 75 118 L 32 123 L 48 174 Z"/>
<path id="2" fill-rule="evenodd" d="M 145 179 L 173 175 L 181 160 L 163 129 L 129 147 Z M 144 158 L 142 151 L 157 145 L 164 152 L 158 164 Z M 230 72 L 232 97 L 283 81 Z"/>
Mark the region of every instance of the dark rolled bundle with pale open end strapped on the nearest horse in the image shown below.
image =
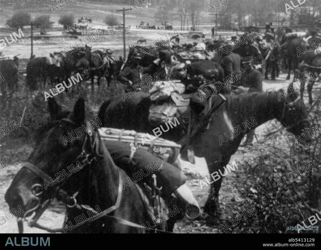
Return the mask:
<path id="1" fill-rule="evenodd" d="M 148 183 L 152 179 L 152 174 L 155 173 L 158 186 L 163 187 L 164 198 L 171 199 L 171 194 L 175 193 L 180 201 L 187 204 L 186 215 L 189 219 L 196 219 L 200 215 L 200 208 L 192 191 L 184 184 L 187 177 L 180 169 L 142 149 L 136 149 L 133 153 L 132 147 L 123 142 L 104 140 L 104 145 L 115 164 L 126 171 L 132 182 L 137 180 Z M 146 169 L 148 165 L 152 166 L 152 170 L 151 168 L 149 171 Z M 127 183 L 123 182 L 123 188 L 126 186 Z"/>

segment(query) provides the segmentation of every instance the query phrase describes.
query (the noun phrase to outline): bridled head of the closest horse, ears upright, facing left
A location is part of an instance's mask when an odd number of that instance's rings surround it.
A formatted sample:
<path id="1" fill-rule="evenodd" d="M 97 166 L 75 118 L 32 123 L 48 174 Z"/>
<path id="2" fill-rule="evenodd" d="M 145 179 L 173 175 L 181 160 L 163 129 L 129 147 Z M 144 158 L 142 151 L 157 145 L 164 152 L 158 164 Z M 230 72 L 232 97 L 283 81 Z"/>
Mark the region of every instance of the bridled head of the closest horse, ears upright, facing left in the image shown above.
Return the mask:
<path id="1" fill-rule="evenodd" d="M 74 171 L 74 168 L 72 171 L 70 166 L 76 166 L 77 161 L 86 164 L 82 161 L 83 153 L 92 152 L 92 145 L 96 142 L 91 136 L 96 136 L 96 132 L 90 126 L 87 133 L 83 132 L 85 129 L 80 129 L 82 126 L 88 127 L 85 125 L 85 104 L 82 98 L 76 102 L 73 112 L 62 111 L 53 98 L 48 102 L 51 121 L 39 129 L 32 153 L 5 194 L 10 209 L 21 206 L 24 212 L 19 217 L 25 218 L 33 212 L 39 212 L 40 204 L 57 196 L 63 185 L 69 193 L 77 188 L 75 186 L 82 185 L 84 178 L 79 175 L 84 171 Z M 65 178 L 62 173 L 66 173 Z M 74 185 L 66 185 L 66 181 L 71 180 L 67 176 L 71 176 L 73 181 L 77 179 Z"/>

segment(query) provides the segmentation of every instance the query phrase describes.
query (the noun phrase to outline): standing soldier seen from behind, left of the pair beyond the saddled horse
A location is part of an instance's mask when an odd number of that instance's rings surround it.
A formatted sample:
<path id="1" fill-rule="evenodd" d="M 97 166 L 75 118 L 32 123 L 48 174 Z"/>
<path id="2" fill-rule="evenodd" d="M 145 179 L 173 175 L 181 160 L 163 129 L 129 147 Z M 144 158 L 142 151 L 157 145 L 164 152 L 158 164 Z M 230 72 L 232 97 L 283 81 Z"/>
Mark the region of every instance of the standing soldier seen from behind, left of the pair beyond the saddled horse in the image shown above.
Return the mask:
<path id="1" fill-rule="evenodd" d="M 226 45 L 227 50 L 230 51 L 233 49 L 232 45 L 229 43 Z M 224 70 L 225 77 L 229 76 L 232 78 L 234 73 L 237 77 L 237 81 L 234 83 L 236 86 L 239 86 L 241 79 L 241 57 L 239 54 L 233 53 L 233 51 L 224 54 L 225 56 L 221 60 L 221 66 Z M 230 87 L 226 87 L 226 92 L 230 93 Z"/>

